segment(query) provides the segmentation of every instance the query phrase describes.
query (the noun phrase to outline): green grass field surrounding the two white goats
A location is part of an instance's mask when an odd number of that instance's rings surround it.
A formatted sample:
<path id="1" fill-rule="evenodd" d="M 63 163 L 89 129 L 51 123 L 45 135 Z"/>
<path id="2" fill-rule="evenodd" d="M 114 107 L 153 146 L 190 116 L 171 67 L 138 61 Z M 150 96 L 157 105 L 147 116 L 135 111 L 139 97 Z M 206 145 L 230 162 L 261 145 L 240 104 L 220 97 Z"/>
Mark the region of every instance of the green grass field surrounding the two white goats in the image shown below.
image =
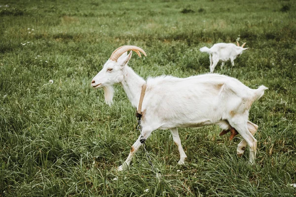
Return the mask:
<path id="1" fill-rule="evenodd" d="M 170 131 L 152 133 L 160 180 L 142 148 L 117 172 L 139 132 L 120 86 L 111 107 L 90 86 L 112 51 L 143 48 L 129 66 L 144 78 L 187 77 L 209 72 L 199 48 L 237 39 L 250 49 L 215 72 L 269 88 L 250 110 L 256 164 L 211 126 L 179 130 L 185 166 Z M 296 196 L 295 98 L 293 0 L 0 0 L 0 197 Z"/>

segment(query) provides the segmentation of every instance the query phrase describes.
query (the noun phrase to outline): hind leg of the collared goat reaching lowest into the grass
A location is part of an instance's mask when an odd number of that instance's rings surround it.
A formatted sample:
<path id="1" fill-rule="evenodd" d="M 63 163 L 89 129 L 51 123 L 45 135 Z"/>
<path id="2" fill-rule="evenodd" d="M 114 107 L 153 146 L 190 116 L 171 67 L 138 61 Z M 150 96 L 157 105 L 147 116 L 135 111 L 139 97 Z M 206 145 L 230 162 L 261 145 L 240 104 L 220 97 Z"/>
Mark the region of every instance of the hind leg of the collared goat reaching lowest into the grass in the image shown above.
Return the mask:
<path id="1" fill-rule="evenodd" d="M 248 129 L 248 121 L 245 121 L 243 117 L 236 117 L 232 120 L 228 120 L 229 124 L 238 131 L 238 133 L 244 138 L 246 143 L 249 145 L 250 150 L 250 164 L 255 163 L 256 152 L 257 152 L 257 140 Z M 252 125 L 252 124 L 250 124 Z"/>

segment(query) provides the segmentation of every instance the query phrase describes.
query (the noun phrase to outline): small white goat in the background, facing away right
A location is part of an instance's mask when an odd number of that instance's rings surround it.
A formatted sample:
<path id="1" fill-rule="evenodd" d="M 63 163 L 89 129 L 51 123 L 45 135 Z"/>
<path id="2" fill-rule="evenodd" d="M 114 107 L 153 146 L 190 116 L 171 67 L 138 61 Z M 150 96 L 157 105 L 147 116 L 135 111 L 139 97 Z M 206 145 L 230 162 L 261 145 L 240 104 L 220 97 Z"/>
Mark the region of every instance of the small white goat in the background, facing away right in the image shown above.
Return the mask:
<path id="1" fill-rule="evenodd" d="M 214 72 L 215 67 L 217 66 L 218 62 L 221 60 L 222 65 L 221 68 L 224 66 L 225 62 L 230 59 L 232 66 L 234 66 L 234 60 L 237 56 L 241 55 L 243 51 L 249 49 L 244 48 L 245 43 L 240 47 L 239 43 L 237 46 L 232 43 L 217 43 L 214 44 L 210 49 L 206 46 L 200 48 L 201 52 L 207 52 L 210 55 L 210 71 Z"/>

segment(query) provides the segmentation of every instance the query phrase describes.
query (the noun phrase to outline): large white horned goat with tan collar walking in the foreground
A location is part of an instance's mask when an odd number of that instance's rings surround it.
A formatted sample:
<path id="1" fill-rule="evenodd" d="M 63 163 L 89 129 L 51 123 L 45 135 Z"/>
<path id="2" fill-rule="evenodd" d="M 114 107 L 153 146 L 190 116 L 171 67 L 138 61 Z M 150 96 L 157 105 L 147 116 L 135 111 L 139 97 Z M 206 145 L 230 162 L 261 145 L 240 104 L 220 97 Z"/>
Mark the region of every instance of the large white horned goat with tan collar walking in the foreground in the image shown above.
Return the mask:
<path id="1" fill-rule="evenodd" d="M 136 46 L 122 46 L 116 49 L 103 69 L 93 78 L 93 88 L 103 88 L 105 101 L 112 103 L 115 83 L 121 84 L 134 107 L 138 107 L 142 87 L 147 84 L 142 103 L 142 134 L 145 139 L 156 129 L 172 132 L 173 140 L 180 152 L 178 164 L 184 164 L 186 154 L 182 148 L 178 127 L 202 127 L 219 125 L 224 130 L 235 128 L 243 137 L 237 148 L 242 155 L 246 145 L 250 149 L 250 163 L 254 163 L 257 140 L 253 137 L 258 126 L 248 121 L 252 103 L 264 94 L 265 86 L 250 89 L 235 78 L 219 74 L 203 74 L 187 78 L 173 76 L 149 77 L 145 81 L 127 66 L 132 51 L 140 57 L 143 49 Z M 232 128 L 233 127 L 233 128 Z M 128 166 L 135 152 L 142 145 L 141 135 L 133 144 L 126 161 L 118 167 Z"/>

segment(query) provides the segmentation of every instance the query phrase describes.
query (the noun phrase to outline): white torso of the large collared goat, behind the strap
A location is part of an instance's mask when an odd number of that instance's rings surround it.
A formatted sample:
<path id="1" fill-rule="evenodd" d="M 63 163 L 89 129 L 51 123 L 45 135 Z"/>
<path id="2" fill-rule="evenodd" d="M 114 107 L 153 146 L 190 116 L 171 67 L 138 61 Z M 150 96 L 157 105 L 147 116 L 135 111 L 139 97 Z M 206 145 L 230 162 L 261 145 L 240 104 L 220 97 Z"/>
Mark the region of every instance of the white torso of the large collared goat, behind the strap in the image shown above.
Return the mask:
<path id="1" fill-rule="evenodd" d="M 213 124 L 230 111 L 243 110 L 240 107 L 245 101 L 250 100 L 244 109 L 250 108 L 255 101 L 255 92 L 239 80 L 225 75 L 160 76 L 148 78 L 143 109 L 151 116 L 157 114 L 158 119 L 170 127 L 182 127 L 182 124 L 188 127 L 196 125 L 196 121 Z"/>

